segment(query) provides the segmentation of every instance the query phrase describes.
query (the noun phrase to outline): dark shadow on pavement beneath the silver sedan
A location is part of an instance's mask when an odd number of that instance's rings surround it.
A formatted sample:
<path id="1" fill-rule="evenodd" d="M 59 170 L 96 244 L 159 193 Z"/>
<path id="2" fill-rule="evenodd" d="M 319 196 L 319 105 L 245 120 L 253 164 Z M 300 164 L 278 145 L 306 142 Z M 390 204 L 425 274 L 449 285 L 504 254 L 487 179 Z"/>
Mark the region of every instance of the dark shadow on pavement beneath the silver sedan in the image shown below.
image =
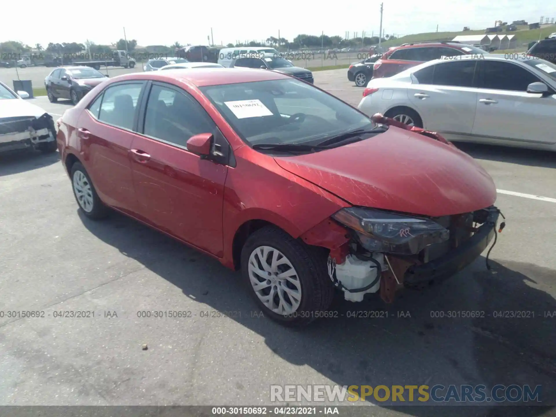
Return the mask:
<path id="1" fill-rule="evenodd" d="M 519 165 L 556 168 L 556 152 L 509 146 L 484 145 L 482 143 L 454 142 L 460 151 L 476 159 L 517 163 Z"/>

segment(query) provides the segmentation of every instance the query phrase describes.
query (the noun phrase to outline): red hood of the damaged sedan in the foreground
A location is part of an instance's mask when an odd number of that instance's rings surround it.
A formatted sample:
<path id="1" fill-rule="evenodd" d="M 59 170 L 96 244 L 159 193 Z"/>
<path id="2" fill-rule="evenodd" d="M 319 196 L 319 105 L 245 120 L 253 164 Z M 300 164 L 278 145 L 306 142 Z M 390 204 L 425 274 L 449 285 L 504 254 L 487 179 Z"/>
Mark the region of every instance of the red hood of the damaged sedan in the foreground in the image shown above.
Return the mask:
<path id="1" fill-rule="evenodd" d="M 496 200 L 492 178 L 469 155 L 393 126 L 350 145 L 275 160 L 355 206 L 435 217 Z"/>

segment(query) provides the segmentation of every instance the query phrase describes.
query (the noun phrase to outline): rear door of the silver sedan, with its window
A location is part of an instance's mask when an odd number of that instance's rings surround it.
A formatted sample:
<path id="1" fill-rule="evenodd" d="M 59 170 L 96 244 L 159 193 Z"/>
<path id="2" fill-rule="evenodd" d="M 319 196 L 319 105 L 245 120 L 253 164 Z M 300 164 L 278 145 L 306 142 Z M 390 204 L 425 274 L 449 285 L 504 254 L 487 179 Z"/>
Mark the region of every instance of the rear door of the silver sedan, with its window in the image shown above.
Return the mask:
<path id="1" fill-rule="evenodd" d="M 425 129 L 447 136 L 471 133 L 477 96 L 476 62 L 440 62 L 413 74 L 419 83 L 408 86 L 408 99 L 423 119 Z"/>

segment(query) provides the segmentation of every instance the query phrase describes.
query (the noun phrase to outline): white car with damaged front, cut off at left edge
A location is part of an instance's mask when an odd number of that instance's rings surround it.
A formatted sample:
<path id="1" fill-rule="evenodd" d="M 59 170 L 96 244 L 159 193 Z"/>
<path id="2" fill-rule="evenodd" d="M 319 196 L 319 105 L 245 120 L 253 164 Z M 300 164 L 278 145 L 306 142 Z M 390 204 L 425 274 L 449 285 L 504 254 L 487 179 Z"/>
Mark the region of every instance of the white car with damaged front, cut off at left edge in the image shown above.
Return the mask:
<path id="1" fill-rule="evenodd" d="M 52 116 L 23 100 L 27 97 L 27 92 L 16 93 L 0 82 L 0 153 L 33 148 L 48 153 L 57 149 Z"/>

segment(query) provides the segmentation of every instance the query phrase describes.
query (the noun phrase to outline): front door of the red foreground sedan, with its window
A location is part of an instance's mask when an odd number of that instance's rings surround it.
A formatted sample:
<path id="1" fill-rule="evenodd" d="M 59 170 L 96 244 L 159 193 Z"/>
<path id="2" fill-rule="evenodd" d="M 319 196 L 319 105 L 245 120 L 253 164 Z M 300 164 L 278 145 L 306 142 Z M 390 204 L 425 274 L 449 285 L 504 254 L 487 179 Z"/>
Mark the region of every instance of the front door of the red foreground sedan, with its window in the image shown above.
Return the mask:
<path id="1" fill-rule="evenodd" d="M 223 155 L 230 154 L 229 145 L 202 106 L 181 88 L 152 83 L 144 101 L 138 129 L 142 135 L 131 146 L 141 216 L 173 236 L 222 256 L 227 160 L 217 155 L 201 158 L 187 150 L 187 140 L 212 133 Z"/>

